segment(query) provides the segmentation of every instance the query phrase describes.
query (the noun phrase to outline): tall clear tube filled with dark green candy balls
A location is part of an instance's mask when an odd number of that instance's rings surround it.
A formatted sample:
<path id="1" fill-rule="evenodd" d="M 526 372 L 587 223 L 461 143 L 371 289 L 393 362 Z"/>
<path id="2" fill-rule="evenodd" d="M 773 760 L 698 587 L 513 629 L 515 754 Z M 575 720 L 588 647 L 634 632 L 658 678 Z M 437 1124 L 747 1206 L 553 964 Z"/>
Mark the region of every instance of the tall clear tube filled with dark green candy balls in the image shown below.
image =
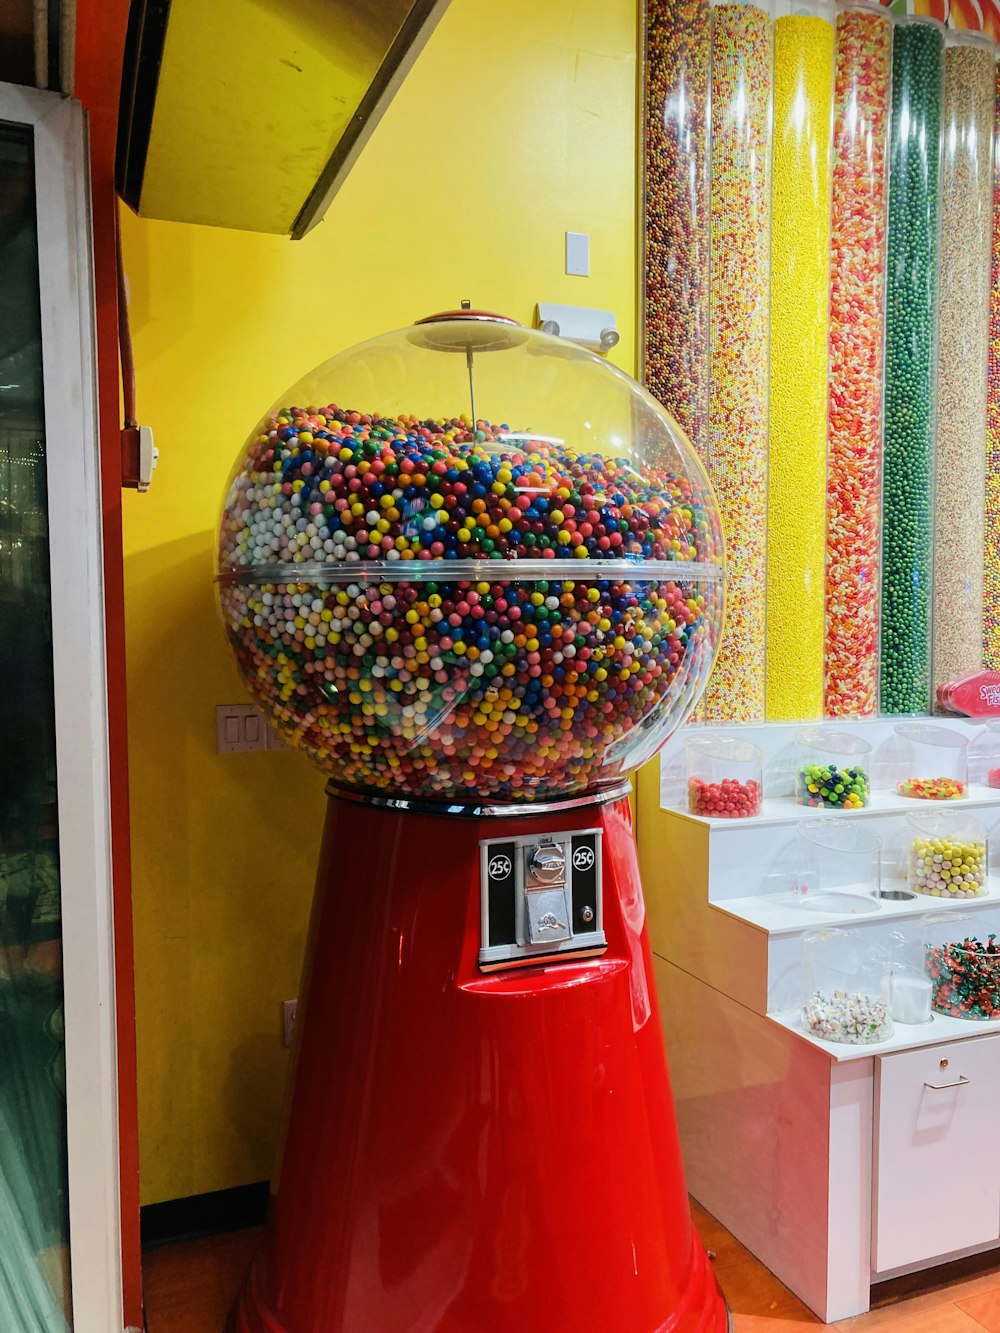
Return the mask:
<path id="1" fill-rule="evenodd" d="M 892 40 L 883 428 L 880 706 L 927 712 L 944 28 Z"/>

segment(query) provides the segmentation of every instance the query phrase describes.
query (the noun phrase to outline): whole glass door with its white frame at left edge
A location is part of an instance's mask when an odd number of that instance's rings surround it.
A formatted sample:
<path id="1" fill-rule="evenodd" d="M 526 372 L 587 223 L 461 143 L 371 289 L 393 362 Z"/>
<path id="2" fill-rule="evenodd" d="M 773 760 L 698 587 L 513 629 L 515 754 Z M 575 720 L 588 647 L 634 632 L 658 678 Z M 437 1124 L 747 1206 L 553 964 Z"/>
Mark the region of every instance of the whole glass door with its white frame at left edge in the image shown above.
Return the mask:
<path id="1" fill-rule="evenodd" d="M 0 85 L 0 1329 L 120 1330 L 85 136 Z"/>

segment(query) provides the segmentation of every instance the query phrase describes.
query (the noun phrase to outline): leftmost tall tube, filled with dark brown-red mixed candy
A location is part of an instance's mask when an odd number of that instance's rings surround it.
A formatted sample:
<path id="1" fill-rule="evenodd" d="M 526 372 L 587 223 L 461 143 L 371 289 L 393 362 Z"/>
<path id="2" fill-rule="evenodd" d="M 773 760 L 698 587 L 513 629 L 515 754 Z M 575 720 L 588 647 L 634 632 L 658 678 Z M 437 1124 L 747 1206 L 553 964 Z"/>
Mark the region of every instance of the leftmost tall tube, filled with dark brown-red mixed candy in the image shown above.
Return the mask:
<path id="1" fill-rule="evenodd" d="M 643 379 L 708 449 L 709 0 L 645 0 Z"/>

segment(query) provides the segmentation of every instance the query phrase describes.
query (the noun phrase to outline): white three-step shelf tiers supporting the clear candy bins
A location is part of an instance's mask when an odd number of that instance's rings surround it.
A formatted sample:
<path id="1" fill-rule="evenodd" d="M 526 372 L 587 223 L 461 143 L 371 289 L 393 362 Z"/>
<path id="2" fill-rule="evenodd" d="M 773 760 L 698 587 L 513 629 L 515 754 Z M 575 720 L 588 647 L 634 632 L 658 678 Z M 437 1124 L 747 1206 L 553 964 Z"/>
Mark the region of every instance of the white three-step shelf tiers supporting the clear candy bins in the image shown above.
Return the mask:
<path id="1" fill-rule="evenodd" d="M 671 740 L 660 760 L 661 809 L 672 818 L 687 821 L 684 829 L 677 828 L 676 832 L 679 845 L 687 848 L 692 836 L 711 833 L 705 848 L 708 884 L 701 889 L 707 889 L 708 902 L 684 900 L 679 904 L 672 921 L 671 942 L 667 945 L 669 961 L 751 1012 L 767 1016 L 769 1022 L 785 1028 L 801 1041 L 827 1052 L 835 1062 L 967 1040 L 989 1032 L 1000 1034 L 1000 1022 L 995 1025 L 936 1014 L 928 1024 L 896 1024 L 889 1041 L 853 1046 L 813 1037 L 801 1025 L 797 1005 L 801 992 L 800 940 L 811 932 L 829 928 L 857 932 L 859 944 L 877 949 L 887 946 L 892 934 L 904 929 L 907 921 L 917 922 L 931 913 L 941 913 L 955 914 L 956 918 L 975 917 L 980 934 L 993 929 L 1000 933 L 1000 873 L 989 877 L 988 892 L 977 898 L 915 894 L 904 901 L 872 900 L 871 910 L 860 912 L 844 912 L 843 906 L 839 910 L 817 912 L 803 908 L 791 893 L 781 892 L 785 881 L 797 878 L 795 826 L 801 822 L 873 820 L 872 832 L 883 840 L 883 888 L 888 890 L 904 888 L 899 856 L 905 838 L 907 814 L 952 812 L 961 817 L 980 812 L 979 817 L 987 824 L 992 837 L 996 814 L 1000 814 L 1000 789 L 984 785 L 985 765 L 981 762 L 981 753 L 977 769 L 971 773 L 979 781 L 971 782 L 960 800 L 923 801 L 899 794 L 895 789 L 895 781 L 900 776 L 899 753 L 893 750 L 897 721 L 903 718 L 823 724 L 863 736 L 872 746 L 871 760 L 865 765 L 872 784 L 871 798 L 868 805 L 853 810 L 796 804 L 792 792 L 799 765 L 795 740 L 797 724 L 699 728 L 701 734 L 740 736 L 761 750 L 764 790 L 785 794 L 765 797 L 760 814 L 752 818 L 709 818 L 687 810 L 683 736 Z M 983 726 L 981 721 L 972 718 L 928 721 L 961 732 L 969 741 L 980 734 Z M 1000 870 L 1000 861 L 997 869 Z M 772 885 L 777 892 L 768 893 L 767 889 Z M 748 889 L 757 892 L 748 893 Z M 912 926 L 904 929 L 904 933 L 912 933 Z M 791 1004 L 796 1006 L 788 1008 Z"/>

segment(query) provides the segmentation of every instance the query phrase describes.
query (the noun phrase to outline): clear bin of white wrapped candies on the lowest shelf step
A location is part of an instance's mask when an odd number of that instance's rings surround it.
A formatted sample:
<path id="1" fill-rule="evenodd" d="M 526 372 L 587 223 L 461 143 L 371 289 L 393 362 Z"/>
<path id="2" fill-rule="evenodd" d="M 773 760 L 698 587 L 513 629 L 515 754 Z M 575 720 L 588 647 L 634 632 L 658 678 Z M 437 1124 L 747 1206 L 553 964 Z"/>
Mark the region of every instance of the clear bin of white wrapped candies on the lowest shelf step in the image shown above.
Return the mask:
<path id="1" fill-rule="evenodd" d="M 892 1036 L 892 969 L 847 930 L 803 938 L 803 1026 L 813 1037 L 873 1045 Z"/>

